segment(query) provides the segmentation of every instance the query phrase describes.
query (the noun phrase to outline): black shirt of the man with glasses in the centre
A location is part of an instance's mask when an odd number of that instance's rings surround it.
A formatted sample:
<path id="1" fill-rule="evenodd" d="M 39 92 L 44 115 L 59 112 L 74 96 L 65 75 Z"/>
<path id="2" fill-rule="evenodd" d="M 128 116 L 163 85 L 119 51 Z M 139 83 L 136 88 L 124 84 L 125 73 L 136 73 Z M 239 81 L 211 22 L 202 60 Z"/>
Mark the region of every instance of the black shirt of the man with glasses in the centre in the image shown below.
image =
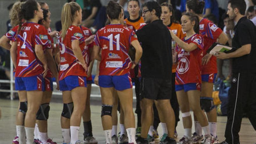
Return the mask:
<path id="1" fill-rule="evenodd" d="M 162 20 L 155 20 L 136 32 L 141 43 L 141 76 L 170 79 L 172 74 L 171 35 Z"/>

